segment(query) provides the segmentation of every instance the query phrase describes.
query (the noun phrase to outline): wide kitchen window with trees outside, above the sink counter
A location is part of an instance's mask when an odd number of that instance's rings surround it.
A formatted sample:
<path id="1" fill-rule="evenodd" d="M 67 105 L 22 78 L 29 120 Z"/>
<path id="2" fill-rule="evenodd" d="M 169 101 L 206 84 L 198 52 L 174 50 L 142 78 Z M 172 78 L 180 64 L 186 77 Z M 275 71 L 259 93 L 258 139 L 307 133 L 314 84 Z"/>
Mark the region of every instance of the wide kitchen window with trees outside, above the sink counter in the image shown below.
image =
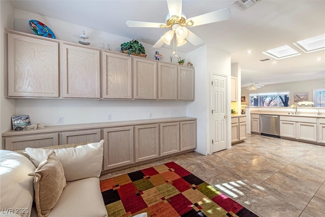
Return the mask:
<path id="1" fill-rule="evenodd" d="M 259 93 L 249 94 L 250 106 L 288 107 L 289 96 L 290 96 L 289 91 L 259 92 Z"/>

